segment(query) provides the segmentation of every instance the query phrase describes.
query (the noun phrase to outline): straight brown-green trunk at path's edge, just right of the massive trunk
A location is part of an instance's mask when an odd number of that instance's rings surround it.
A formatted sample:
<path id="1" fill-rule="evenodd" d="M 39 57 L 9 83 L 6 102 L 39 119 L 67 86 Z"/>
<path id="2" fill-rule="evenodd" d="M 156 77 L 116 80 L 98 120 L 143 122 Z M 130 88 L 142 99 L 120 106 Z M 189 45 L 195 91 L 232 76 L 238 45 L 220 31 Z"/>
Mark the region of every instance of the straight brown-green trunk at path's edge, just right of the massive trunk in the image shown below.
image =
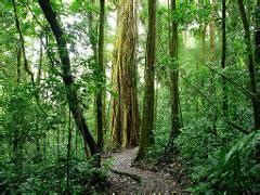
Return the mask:
<path id="1" fill-rule="evenodd" d="M 148 35 L 144 70 L 144 99 L 141 123 L 141 140 L 138 158 L 142 158 L 147 146 L 153 144 L 155 104 L 155 47 L 156 47 L 156 0 L 148 1 Z"/>

